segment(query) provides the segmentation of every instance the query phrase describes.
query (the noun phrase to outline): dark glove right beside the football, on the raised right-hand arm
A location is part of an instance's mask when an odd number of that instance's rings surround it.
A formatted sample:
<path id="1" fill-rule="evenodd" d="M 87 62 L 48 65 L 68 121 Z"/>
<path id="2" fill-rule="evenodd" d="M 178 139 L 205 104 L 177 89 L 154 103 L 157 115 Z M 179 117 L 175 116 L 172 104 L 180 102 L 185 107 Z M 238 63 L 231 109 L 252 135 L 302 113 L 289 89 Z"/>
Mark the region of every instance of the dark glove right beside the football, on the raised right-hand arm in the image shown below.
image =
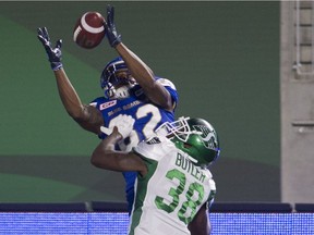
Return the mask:
<path id="1" fill-rule="evenodd" d="M 118 35 L 113 22 L 114 8 L 107 5 L 107 23 L 105 22 L 106 35 L 111 47 L 116 48 L 121 42 L 121 35 Z"/>

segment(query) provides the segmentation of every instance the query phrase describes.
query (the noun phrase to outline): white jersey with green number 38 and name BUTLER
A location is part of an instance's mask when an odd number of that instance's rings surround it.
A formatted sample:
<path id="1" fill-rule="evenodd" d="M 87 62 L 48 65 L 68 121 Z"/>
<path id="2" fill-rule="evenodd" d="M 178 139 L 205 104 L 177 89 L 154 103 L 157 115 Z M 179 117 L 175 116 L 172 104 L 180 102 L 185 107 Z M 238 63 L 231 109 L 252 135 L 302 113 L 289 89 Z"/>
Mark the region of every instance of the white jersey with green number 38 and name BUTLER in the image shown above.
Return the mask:
<path id="1" fill-rule="evenodd" d="M 129 234 L 190 234 L 189 223 L 214 199 L 215 182 L 208 169 L 177 149 L 166 137 L 153 137 L 134 148 L 148 173 L 138 174 Z"/>

